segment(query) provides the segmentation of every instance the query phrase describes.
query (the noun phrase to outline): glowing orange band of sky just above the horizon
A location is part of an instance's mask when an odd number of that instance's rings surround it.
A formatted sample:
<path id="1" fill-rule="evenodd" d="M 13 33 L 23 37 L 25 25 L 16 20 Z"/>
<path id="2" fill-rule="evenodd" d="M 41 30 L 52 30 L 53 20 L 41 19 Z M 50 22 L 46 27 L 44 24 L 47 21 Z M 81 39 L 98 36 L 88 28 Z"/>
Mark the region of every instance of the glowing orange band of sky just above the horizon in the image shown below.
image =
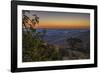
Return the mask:
<path id="1" fill-rule="evenodd" d="M 40 21 L 39 25 L 35 28 L 46 28 L 46 29 L 87 29 L 90 27 L 90 22 L 83 19 L 74 20 L 46 20 Z"/>

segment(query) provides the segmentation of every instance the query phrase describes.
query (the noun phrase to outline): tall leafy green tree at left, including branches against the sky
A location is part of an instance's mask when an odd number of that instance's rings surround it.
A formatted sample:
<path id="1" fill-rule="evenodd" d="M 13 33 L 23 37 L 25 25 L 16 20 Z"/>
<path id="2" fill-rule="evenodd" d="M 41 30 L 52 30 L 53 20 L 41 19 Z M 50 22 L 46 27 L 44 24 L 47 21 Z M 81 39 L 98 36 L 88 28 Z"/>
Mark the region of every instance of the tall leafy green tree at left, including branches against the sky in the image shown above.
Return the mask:
<path id="1" fill-rule="evenodd" d="M 24 34 L 23 32 L 22 37 L 23 62 L 59 59 L 58 48 L 43 41 L 46 30 L 44 29 L 42 32 L 36 32 L 35 26 L 36 24 L 39 24 L 39 17 L 36 14 L 33 15 L 33 19 L 30 19 L 30 17 L 25 15 L 24 11 L 22 24 L 25 29 L 29 29 L 27 30 L 29 34 Z"/>

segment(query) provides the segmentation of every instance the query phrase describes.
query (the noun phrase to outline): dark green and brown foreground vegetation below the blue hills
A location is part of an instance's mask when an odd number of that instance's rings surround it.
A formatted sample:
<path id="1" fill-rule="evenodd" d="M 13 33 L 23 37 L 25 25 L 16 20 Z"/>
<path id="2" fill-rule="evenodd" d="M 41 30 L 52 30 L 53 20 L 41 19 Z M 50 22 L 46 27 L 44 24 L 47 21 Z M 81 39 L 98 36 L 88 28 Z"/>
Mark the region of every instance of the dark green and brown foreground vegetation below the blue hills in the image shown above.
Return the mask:
<path id="1" fill-rule="evenodd" d="M 44 36 L 45 32 L 36 32 L 36 29 L 23 31 L 23 62 L 89 59 L 90 57 L 89 45 L 84 49 L 82 40 L 78 38 L 67 39 L 66 48 L 60 48 L 45 42 Z"/>

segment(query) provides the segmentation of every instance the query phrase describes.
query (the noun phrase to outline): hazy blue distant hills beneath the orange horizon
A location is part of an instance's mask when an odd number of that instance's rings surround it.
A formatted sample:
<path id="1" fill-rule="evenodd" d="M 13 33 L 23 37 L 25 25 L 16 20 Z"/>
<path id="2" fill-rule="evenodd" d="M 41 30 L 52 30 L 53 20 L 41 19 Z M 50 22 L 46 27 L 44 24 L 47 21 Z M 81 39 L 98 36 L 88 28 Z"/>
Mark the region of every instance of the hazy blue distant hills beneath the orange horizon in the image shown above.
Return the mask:
<path id="1" fill-rule="evenodd" d="M 90 41 L 90 30 L 65 30 L 65 29 L 46 29 L 46 35 L 44 40 L 49 44 L 58 46 L 66 46 L 66 40 L 70 37 L 76 37 L 81 39 L 83 42 Z M 42 29 L 38 29 L 37 32 L 42 32 Z"/>

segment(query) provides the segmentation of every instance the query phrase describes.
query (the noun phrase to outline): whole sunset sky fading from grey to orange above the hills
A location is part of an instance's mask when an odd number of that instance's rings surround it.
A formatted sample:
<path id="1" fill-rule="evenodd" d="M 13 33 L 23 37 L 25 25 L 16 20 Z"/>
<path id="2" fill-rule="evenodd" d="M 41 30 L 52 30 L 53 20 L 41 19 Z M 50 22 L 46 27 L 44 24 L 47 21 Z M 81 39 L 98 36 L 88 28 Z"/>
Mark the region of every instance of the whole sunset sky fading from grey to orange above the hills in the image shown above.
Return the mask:
<path id="1" fill-rule="evenodd" d="M 39 17 L 39 25 L 35 28 L 46 29 L 89 29 L 90 14 L 75 12 L 34 11 L 25 12 L 32 19 L 33 14 Z"/>

